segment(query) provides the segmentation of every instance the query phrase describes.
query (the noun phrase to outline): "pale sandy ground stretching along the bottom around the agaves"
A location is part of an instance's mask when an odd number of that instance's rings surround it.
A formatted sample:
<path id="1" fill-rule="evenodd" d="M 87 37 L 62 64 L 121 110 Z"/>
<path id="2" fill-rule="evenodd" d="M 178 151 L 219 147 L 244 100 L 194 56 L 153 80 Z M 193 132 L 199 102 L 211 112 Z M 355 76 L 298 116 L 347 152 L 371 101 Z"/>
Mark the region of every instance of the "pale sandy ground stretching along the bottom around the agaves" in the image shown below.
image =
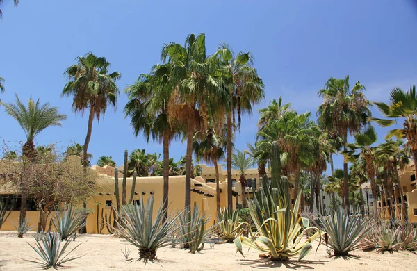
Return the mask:
<path id="1" fill-rule="evenodd" d="M 24 261 L 37 254 L 26 243 L 34 244 L 31 233 L 18 239 L 16 233 L 0 233 L 0 270 L 39 270 L 36 263 Z M 353 252 L 349 258 L 329 257 L 326 247 L 320 245 L 317 254 L 316 247 L 303 261 L 296 259 L 286 263 L 271 262 L 259 258 L 259 253 L 251 249 L 245 257 L 235 255 L 234 244 L 218 244 L 213 249 L 206 244 L 201 252 L 189 254 L 179 248 L 164 247 L 158 249 L 158 263 L 123 261 L 120 249 L 130 247 L 132 258 L 138 256 L 138 251 L 126 241 L 113 236 L 84 235 L 79 236 L 70 248 L 82 243 L 73 256 L 83 255 L 82 258 L 65 263 L 63 270 L 253 270 L 267 268 L 291 268 L 296 270 L 417 270 L 417 255 L 411 252 L 394 252 L 380 254 L 377 252 Z M 316 243 L 317 245 L 317 243 Z"/>

